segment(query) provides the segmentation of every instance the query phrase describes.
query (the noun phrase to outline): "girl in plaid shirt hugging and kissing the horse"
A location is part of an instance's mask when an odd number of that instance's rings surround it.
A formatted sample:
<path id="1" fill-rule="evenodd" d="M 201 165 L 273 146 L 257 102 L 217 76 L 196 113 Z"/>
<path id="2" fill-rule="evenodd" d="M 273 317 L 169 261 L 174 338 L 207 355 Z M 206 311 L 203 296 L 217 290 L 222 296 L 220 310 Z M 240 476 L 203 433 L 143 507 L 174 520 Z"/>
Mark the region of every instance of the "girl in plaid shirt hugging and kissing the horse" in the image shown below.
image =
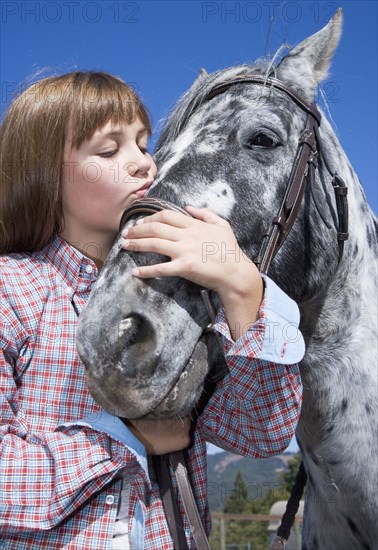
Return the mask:
<path id="1" fill-rule="evenodd" d="M 43 79 L 20 94 L 1 127 L 0 540 L 4 548 L 172 549 L 147 455 L 190 445 L 189 422 L 121 422 L 86 387 L 75 350 L 77 314 L 88 299 L 124 209 L 156 175 L 149 118 L 124 82 L 105 73 Z M 116 171 L 119 173 L 116 175 Z M 250 262 L 202 262 L 201 235 L 233 244 L 227 222 L 149 217 L 127 235 L 172 262 L 137 275 L 174 274 L 216 290 L 216 328 L 230 374 L 200 417 L 188 467 L 207 532 L 206 444 L 251 457 L 282 452 L 301 404 L 303 340 L 284 342 L 296 305 Z M 184 219 L 185 218 L 185 219 Z M 150 222 L 156 222 L 151 224 Z M 178 231 L 184 225 L 185 236 Z M 156 250 L 158 246 L 158 250 Z M 159 248 L 160 247 L 160 248 Z M 220 249 L 220 247 L 219 247 Z M 189 272 L 185 258 L 190 257 Z M 236 257 L 236 254 L 235 254 Z M 242 335 L 235 321 L 256 319 Z M 277 329 L 269 334 L 274 318 Z M 228 321 L 228 322 L 227 322 Z M 269 326 L 270 325 L 270 326 Z M 222 435 L 220 435 L 222 434 Z M 142 443 L 143 442 L 143 443 Z M 183 517 L 189 547 L 193 540 Z"/>

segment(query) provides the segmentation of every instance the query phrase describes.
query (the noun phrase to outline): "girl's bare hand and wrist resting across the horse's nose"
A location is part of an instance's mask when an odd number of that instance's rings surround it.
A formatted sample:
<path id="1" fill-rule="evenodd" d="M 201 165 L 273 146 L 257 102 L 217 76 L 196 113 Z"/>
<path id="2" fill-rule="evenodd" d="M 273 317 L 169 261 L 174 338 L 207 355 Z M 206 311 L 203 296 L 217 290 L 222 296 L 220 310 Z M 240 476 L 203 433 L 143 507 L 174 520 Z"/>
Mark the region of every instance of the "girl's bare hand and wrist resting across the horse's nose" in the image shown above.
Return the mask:
<path id="1" fill-rule="evenodd" d="M 171 258 L 136 268 L 133 275 L 183 277 L 218 292 L 236 339 L 257 318 L 263 295 L 261 276 L 226 220 L 206 208 L 188 206 L 186 210 L 193 217 L 163 210 L 123 231 L 124 248 Z"/>

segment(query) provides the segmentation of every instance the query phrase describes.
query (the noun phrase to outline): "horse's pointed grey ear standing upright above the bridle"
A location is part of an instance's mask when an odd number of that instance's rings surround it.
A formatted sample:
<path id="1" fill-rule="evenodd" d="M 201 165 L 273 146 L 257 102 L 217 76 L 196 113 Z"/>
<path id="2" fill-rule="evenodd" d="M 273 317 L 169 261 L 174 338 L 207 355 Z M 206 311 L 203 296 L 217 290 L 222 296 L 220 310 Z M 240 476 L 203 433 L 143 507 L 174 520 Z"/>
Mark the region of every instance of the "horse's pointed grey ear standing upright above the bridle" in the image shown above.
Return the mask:
<path id="1" fill-rule="evenodd" d="M 342 21 L 339 8 L 323 29 L 293 48 L 277 67 L 277 77 L 302 92 L 309 101 L 314 98 L 317 84 L 328 74 Z"/>

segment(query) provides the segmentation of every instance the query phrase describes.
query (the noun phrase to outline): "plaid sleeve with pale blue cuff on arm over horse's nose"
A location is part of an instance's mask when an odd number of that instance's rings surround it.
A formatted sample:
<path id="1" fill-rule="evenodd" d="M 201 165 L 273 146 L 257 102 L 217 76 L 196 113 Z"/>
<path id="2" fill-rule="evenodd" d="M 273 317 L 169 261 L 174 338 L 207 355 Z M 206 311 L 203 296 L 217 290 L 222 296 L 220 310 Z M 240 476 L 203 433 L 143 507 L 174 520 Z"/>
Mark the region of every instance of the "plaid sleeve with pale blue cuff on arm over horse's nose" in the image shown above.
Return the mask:
<path id="1" fill-rule="evenodd" d="M 297 305 L 265 278 L 260 318 L 236 342 L 224 311 L 220 334 L 229 374 L 218 383 L 199 419 L 211 443 L 253 458 L 282 453 L 299 420 L 302 383 L 298 362 L 305 346 L 298 329 Z"/>

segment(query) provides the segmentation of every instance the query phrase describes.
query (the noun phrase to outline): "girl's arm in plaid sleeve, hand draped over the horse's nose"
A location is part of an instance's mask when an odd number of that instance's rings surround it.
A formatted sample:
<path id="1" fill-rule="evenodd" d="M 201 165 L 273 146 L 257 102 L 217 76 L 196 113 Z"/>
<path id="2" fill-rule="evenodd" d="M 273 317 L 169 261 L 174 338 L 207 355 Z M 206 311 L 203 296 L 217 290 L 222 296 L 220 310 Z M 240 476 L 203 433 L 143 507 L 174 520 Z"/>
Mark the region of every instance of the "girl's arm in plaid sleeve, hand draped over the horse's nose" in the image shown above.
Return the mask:
<path id="1" fill-rule="evenodd" d="M 302 399 L 298 307 L 268 278 L 264 294 L 263 278 L 228 222 L 206 209 L 188 211 L 193 218 L 162 211 L 140 220 L 123 233 L 123 246 L 171 258 L 136 269 L 136 276 L 184 277 L 221 298 L 216 327 L 230 374 L 199 421 L 205 437 L 239 454 L 280 453 L 294 435 Z"/>

